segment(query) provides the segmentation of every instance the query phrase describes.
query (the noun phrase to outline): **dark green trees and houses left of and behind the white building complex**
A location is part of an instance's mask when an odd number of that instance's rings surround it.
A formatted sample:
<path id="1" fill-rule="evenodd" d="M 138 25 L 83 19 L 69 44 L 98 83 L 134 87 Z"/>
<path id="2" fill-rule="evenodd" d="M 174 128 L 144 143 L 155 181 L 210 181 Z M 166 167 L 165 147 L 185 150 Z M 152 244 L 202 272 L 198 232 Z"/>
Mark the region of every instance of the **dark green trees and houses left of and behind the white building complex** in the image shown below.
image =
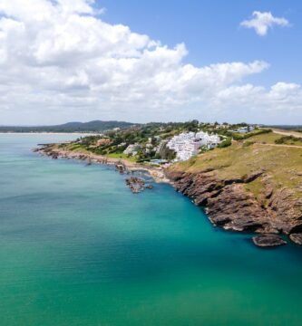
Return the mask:
<path id="1" fill-rule="evenodd" d="M 93 128 L 96 122 L 100 121 L 90 123 Z M 108 123 L 113 122 L 115 123 L 115 121 L 109 121 Z M 123 124 L 123 122 L 119 123 Z M 250 129 L 250 131 L 239 133 L 237 131 L 240 128 Z M 108 129 L 96 135 L 77 139 L 73 143 L 60 145 L 60 149 L 93 153 L 108 158 L 129 159 L 139 163 L 148 162 L 152 159 L 172 161 L 176 153 L 167 147 L 168 141 L 181 132 L 197 132 L 200 130 L 209 134 L 218 134 L 221 139 L 219 149 L 232 148 L 233 140 L 242 142 L 244 139 L 271 134 L 269 129 L 252 128 L 246 123 L 202 123 L 198 120 L 168 123 L 151 122 L 143 125 L 130 125 L 128 128 Z M 255 139 L 252 142 L 244 142 L 243 146 L 251 146 L 253 142 L 257 141 Z M 127 150 L 125 151 L 125 149 Z M 204 146 L 200 149 L 200 153 L 207 153 L 209 150 L 212 149 Z"/>

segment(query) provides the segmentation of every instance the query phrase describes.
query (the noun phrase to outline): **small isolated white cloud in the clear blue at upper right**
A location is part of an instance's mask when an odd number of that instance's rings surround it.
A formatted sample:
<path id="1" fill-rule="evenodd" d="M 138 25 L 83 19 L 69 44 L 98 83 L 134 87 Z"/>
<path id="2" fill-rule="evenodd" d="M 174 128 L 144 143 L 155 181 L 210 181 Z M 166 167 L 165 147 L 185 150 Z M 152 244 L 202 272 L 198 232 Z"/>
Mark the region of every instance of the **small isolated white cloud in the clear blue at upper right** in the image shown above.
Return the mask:
<path id="1" fill-rule="evenodd" d="M 287 19 L 274 17 L 270 12 L 261 13 L 254 11 L 250 20 L 245 20 L 240 24 L 243 27 L 253 28 L 260 36 L 268 34 L 268 29 L 276 26 L 289 26 Z"/>

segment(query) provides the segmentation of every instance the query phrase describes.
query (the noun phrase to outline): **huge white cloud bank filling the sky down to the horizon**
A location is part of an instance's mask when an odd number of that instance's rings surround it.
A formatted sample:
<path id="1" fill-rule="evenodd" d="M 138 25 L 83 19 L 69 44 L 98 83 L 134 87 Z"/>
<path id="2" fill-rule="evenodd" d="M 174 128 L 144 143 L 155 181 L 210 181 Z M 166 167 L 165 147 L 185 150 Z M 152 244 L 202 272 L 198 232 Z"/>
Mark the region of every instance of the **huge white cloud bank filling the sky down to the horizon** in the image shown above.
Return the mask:
<path id="1" fill-rule="evenodd" d="M 302 90 L 245 79 L 268 63 L 184 63 L 128 26 L 107 24 L 85 0 L 0 1 L 0 124 L 66 120 L 296 121 Z M 283 112 L 282 112 L 283 110 Z"/>

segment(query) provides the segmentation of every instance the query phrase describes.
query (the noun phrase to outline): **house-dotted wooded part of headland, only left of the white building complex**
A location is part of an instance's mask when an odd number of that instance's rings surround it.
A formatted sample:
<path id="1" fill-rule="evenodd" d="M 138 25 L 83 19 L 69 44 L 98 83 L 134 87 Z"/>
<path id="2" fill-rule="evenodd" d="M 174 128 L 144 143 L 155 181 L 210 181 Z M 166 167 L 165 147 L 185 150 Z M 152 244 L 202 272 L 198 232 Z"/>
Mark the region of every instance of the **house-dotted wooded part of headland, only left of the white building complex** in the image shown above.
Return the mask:
<path id="1" fill-rule="evenodd" d="M 108 158 L 125 158 L 140 163 L 151 159 L 170 161 L 175 158 L 175 152 L 167 148 L 168 140 L 182 131 L 196 132 L 199 129 L 198 120 L 179 123 L 151 122 L 127 129 L 110 129 L 100 135 L 83 137 L 68 145 L 67 149 L 84 150 Z M 130 145 L 136 149 L 124 154 L 124 150 Z"/>

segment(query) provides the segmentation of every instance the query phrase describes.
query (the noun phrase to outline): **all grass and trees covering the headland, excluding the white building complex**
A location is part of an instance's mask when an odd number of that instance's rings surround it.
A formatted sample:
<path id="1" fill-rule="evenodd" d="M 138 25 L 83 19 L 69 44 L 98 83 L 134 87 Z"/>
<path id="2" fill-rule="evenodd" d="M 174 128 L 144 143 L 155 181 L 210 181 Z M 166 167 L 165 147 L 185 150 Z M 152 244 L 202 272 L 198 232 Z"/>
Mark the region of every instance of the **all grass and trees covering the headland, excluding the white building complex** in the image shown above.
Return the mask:
<path id="1" fill-rule="evenodd" d="M 293 190 L 294 197 L 301 196 L 302 149 L 292 145 L 302 146 L 302 138 L 280 135 L 270 129 L 256 128 L 243 134 L 235 132 L 240 127 L 245 126 L 200 123 L 197 120 L 148 123 L 126 129 L 110 129 L 56 147 L 139 163 L 151 162 L 152 159 L 172 161 L 175 152 L 166 146 L 170 138 L 190 130 L 215 132 L 222 140 L 216 149 L 203 147 L 199 156 L 174 164 L 171 168 L 187 172 L 212 170 L 221 179 L 242 178 L 264 169 L 271 176 L 274 187 L 288 187 Z M 129 148 L 131 150 L 128 151 Z M 263 184 L 258 178 L 245 187 L 259 197 Z"/>

